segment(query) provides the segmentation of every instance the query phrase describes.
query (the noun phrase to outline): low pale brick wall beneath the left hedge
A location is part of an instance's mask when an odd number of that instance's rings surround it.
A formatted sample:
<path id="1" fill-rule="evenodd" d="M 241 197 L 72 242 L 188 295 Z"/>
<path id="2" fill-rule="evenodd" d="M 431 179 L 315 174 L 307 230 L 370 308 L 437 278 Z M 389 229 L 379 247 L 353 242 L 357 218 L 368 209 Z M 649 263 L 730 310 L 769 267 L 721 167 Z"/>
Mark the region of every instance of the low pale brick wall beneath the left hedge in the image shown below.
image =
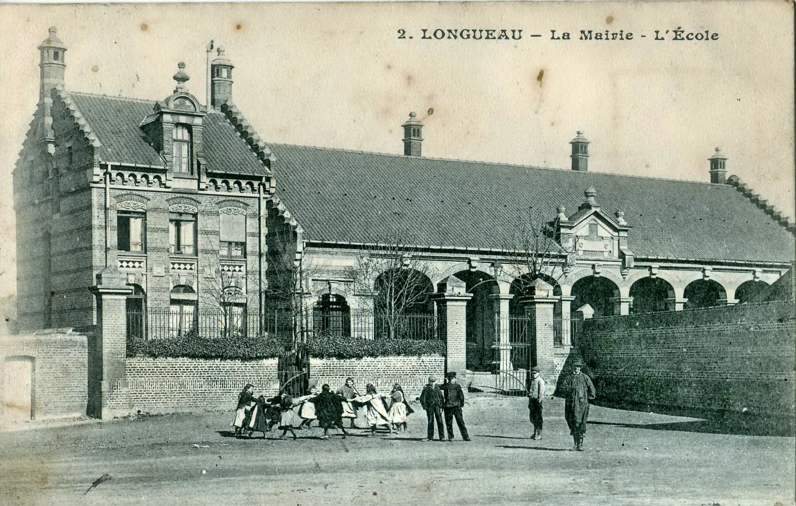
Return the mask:
<path id="1" fill-rule="evenodd" d="M 277 359 L 129 357 L 127 381 L 114 385 L 109 407 L 116 414 L 233 410 L 247 383 L 256 395 L 278 392 Z"/>

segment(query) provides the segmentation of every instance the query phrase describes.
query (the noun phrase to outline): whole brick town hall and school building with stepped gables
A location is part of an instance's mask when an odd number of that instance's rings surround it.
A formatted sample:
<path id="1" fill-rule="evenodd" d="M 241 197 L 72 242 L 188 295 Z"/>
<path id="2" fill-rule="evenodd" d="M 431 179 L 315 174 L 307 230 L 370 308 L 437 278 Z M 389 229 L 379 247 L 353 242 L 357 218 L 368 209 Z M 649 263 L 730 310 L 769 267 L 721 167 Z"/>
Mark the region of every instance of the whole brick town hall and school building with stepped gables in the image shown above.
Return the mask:
<path id="1" fill-rule="evenodd" d="M 719 149 L 696 183 L 589 172 L 580 132 L 571 170 L 429 159 L 415 114 L 403 155 L 266 144 L 233 105 L 223 49 L 209 104 L 183 64 L 163 100 L 71 91 L 55 29 L 39 49 L 39 107 L 14 169 L 21 330 L 98 324 L 92 287 L 118 277 L 127 333 L 180 334 L 213 309 L 234 322 L 222 332 L 264 333 L 293 311 L 304 330 L 373 338 L 387 281 L 357 271 L 400 246 L 396 270 L 433 293 L 411 309 L 448 339 L 448 369 L 556 373 L 575 309 L 749 302 L 794 261 L 794 226 L 726 177 Z M 536 228 L 521 222 L 529 210 Z M 544 250 L 529 253 L 529 238 Z"/>

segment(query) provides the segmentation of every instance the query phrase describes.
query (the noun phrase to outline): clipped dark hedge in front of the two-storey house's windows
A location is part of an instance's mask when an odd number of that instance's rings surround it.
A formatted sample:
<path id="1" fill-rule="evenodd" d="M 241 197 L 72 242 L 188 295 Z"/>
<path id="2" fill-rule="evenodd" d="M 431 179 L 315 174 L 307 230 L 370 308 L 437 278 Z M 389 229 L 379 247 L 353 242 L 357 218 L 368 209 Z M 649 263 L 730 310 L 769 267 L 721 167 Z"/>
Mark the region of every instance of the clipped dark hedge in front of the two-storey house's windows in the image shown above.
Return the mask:
<path id="1" fill-rule="evenodd" d="M 260 337 L 211 339 L 189 333 L 180 338 L 169 339 L 127 338 L 128 357 L 256 360 L 279 357 L 284 351 L 282 342 Z"/>

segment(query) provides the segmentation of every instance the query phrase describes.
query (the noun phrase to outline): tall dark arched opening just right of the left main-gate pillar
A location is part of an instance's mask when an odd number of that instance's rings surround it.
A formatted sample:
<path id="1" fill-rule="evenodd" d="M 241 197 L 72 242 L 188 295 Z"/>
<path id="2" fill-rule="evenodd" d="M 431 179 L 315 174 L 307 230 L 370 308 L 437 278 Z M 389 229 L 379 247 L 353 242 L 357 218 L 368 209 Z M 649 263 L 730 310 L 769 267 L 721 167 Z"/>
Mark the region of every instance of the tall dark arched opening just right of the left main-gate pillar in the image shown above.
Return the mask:
<path id="1" fill-rule="evenodd" d="M 461 271 L 454 276 L 466 284 L 467 293 L 473 297 L 466 307 L 466 367 L 471 371 L 494 370 L 497 342 L 495 331 L 495 304 L 490 297 L 497 291 L 497 281 L 486 272 Z"/>

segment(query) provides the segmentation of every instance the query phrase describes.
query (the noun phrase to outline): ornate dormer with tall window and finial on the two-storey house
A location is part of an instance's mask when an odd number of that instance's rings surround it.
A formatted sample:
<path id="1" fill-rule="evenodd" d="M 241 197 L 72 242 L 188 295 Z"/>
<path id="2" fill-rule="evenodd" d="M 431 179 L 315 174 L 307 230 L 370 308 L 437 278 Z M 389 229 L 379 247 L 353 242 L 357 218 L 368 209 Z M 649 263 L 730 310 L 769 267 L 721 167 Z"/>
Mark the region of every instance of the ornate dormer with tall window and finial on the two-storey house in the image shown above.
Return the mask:
<path id="1" fill-rule="evenodd" d="M 152 114 L 139 126 L 166 163 L 166 180 L 172 182 L 171 186 L 197 187 L 198 181 L 206 179 L 202 132 L 207 110 L 185 87 L 190 79 L 185 64 L 177 66 L 174 93 L 156 102 Z"/>

